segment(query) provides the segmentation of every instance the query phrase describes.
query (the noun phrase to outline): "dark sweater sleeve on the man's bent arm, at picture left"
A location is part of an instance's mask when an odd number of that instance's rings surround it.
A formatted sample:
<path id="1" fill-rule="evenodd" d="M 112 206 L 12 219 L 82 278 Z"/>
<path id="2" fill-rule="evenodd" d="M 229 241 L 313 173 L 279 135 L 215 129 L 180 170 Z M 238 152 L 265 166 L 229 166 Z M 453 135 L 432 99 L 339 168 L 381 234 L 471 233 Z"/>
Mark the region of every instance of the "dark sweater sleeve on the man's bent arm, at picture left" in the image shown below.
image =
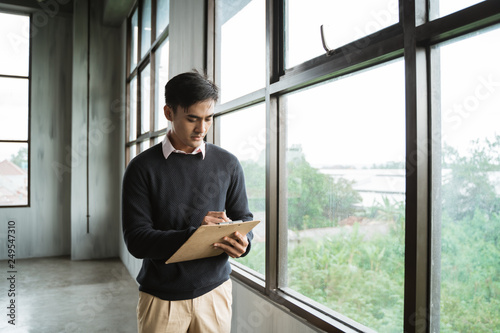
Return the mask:
<path id="1" fill-rule="evenodd" d="M 152 220 L 148 179 L 133 161 L 127 167 L 122 188 L 122 229 L 125 244 L 136 258 L 166 259 L 196 230 L 157 230 Z"/>

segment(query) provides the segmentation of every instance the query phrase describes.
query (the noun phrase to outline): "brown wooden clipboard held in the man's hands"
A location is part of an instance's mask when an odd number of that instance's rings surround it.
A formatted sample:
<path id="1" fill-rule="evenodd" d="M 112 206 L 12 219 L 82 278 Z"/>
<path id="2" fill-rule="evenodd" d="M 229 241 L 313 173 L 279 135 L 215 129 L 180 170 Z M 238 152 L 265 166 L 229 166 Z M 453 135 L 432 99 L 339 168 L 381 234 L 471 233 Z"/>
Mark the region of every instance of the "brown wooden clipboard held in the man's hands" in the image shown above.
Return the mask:
<path id="1" fill-rule="evenodd" d="M 224 251 L 213 247 L 214 243 L 220 242 L 225 236 L 232 235 L 238 231 L 246 235 L 260 221 L 234 222 L 230 224 L 202 225 L 182 244 L 182 246 L 165 262 L 171 264 L 180 261 L 188 261 L 217 256 Z"/>

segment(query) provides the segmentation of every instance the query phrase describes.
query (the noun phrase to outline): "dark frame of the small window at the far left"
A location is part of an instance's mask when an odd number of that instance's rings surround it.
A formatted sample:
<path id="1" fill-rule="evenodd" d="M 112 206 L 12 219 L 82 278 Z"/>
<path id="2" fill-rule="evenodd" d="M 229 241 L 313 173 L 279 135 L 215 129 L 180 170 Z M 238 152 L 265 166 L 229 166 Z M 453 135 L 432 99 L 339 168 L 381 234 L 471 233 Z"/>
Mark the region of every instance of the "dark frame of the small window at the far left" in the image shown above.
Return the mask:
<path id="1" fill-rule="evenodd" d="M 29 18 L 29 25 L 30 27 L 33 25 L 33 14 L 28 14 L 28 13 L 23 13 L 19 11 L 10 11 L 10 10 L 5 10 L 1 9 L 0 13 L 2 14 L 10 14 L 10 15 L 18 15 L 18 16 L 26 16 Z M 10 74 L 2 74 L 0 73 L 0 78 L 10 78 L 10 79 L 24 79 L 28 80 L 28 138 L 27 140 L 3 140 L 0 139 L 0 143 L 22 143 L 26 144 L 28 146 L 28 151 L 27 151 L 27 202 L 25 205 L 2 205 L 0 204 L 0 208 L 28 208 L 31 207 L 31 57 L 32 57 L 32 43 L 31 43 L 31 29 L 28 29 L 29 31 L 29 55 L 28 55 L 28 75 L 27 76 L 22 76 L 22 75 L 10 75 Z"/>

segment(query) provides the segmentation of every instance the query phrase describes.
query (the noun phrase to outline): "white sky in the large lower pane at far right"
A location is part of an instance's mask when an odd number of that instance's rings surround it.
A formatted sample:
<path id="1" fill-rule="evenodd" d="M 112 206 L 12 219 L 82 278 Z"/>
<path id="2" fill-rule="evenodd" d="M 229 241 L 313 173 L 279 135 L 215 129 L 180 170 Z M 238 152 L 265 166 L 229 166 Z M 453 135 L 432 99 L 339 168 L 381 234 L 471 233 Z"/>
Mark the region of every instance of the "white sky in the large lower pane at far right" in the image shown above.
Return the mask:
<path id="1" fill-rule="evenodd" d="M 466 154 L 471 140 L 500 135 L 500 29 L 440 48 L 445 142 Z"/>

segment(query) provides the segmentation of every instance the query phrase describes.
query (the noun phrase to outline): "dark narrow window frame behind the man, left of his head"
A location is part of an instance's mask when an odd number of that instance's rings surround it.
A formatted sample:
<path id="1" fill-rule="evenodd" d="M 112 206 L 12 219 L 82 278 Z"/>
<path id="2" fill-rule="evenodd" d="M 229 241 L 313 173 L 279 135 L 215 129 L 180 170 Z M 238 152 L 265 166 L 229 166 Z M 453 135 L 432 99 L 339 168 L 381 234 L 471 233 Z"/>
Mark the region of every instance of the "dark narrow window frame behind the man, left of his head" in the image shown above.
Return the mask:
<path id="1" fill-rule="evenodd" d="M 141 41 L 142 41 L 142 3 L 144 0 L 137 0 L 134 6 L 131 8 L 128 16 L 127 16 L 127 61 L 126 61 L 126 94 L 127 94 L 127 103 L 126 103 L 126 127 L 125 127 L 125 164 L 128 164 L 130 160 L 135 157 L 137 154 L 142 152 L 141 145 L 148 143 L 149 147 L 152 147 L 156 140 L 162 135 L 166 135 L 168 128 L 162 128 L 155 130 L 155 122 L 157 121 L 157 117 L 155 117 L 155 111 L 158 109 L 156 105 L 156 52 L 158 49 L 166 42 L 169 38 L 169 28 L 170 28 L 170 20 L 169 24 L 165 27 L 165 29 L 158 35 L 157 27 L 156 27 L 156 16 L 157 16 L 157 0 L 151 0 L 151 45 L 149 49 L 146 51 L 146 54 L 141 57 Z M 169 1 L 170 6 L 170 1 Z M 137 34 L 137 64 L 131 69 L 131 55 L 132 55 L 132 23 L 131 19 L 134 15 L 135 11 L 137 11 L 137 20 L 138 20 L 138 34 Z M 141 105 L 141 90 L 144 86 L 144 83 L 141 79 L 142 71 L 149 66 L 150 71 L 150 80 L 149 87 L 151 88 L 149 91 L 149 131 L 141 133 L 141 121 L 142 121 L 142 105 Z M 137 92 L 135 96 L 135 139 L 130 140 L 130 117 L 131 117 L 131 91 L 130 91 L 130 83 L 131 81 L 136 80 Z M 135 149 L 134 149 L 135 148 Z M 131 156 L 131 150 L 134 149 L 134 156 Z M 147 149 L 147 148 L 146 148 Z"/>

